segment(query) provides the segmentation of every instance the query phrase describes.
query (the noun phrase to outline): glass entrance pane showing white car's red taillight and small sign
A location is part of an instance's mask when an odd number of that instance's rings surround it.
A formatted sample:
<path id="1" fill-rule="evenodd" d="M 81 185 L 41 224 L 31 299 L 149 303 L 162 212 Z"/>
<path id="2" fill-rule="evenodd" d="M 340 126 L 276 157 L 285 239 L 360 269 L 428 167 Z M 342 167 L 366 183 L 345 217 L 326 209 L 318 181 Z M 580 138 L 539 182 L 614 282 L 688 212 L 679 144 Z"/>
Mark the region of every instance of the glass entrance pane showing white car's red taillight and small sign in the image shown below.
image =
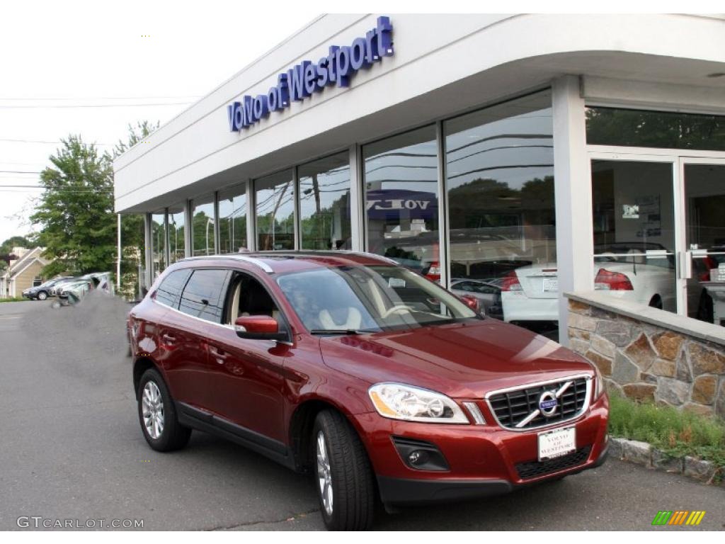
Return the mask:
<path id="1" fill-rule="evenodd" d="M 676 312 L 676 157 L 592 158 L 595 289 Z"/>

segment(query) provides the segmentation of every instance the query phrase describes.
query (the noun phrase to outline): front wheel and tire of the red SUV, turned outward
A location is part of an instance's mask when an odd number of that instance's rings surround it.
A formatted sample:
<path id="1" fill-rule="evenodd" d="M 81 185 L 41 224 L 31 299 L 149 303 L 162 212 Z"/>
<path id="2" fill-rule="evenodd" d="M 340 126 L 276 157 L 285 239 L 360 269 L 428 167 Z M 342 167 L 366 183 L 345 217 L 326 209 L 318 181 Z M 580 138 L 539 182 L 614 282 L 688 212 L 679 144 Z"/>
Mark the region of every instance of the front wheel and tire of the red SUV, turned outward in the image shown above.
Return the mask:
<path id="1" fill-rule="evenodd" d="M 325 526 L 332 531 L 369 529 L 375 483 L 368 453 L 341 413 L 318 413 L 312 429 L 315 489 Z M 320 452 L 324 454 L 320 457 Z"/>

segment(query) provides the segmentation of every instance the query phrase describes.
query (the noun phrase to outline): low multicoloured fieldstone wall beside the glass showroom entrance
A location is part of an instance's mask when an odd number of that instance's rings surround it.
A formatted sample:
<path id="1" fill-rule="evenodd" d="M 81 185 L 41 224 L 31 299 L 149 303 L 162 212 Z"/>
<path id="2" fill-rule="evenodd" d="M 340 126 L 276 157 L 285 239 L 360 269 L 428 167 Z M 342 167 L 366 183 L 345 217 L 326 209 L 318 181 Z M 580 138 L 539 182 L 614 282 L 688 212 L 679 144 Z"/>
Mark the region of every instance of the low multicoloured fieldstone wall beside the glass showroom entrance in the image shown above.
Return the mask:
<path id="1" fill-rule="evenodd" d="M 614 303 L 597 302 L 600 297 L 568 297 L 570 347 L 600 369 L 609 390 L 725 417 L 724 344 L 668 326 L 674 318 L 688 319 L 682 316 L 669 314 L 655 323 L 651 316 L 662 310 L 643 309 L 648 318 L 635 318 L 631 307 L 620 313 Z"/>

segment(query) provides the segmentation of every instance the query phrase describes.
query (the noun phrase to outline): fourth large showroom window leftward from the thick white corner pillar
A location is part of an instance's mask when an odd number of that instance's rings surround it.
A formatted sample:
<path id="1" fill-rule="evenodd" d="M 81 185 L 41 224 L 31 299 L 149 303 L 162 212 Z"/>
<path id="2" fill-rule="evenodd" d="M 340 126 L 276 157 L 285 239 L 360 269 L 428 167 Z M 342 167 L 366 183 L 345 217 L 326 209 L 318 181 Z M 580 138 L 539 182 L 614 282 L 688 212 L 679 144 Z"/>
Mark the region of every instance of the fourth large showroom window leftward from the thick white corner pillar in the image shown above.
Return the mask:
<path id="1" fill-rule="evenodd" d="M 284 170 L 254 181 L 257 250 L 294 250 L 294 174 Z"/>

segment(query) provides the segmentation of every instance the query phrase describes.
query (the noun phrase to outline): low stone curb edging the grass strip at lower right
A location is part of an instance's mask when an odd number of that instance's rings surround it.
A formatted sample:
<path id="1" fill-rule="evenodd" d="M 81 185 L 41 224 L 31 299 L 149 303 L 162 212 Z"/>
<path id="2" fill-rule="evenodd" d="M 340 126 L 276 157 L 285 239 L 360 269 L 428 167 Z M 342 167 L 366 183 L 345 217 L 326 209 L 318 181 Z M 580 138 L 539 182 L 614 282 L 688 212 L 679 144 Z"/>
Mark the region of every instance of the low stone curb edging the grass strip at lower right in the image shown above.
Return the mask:
<path id="1" fill-rule="evenodd" d="M 725 477 L 725 470 L 718 469 L 712 461 L 702 461 L 690 456 L 672 457 L 653 445 L 638 440 L 609 437 L 609 455 L 621 461 L 646 466 L 647 469 L 682 474 L 708 485 L 718 485 L 716 478 Z M 725 485 L 725 479 L 719 485 Z"/>

